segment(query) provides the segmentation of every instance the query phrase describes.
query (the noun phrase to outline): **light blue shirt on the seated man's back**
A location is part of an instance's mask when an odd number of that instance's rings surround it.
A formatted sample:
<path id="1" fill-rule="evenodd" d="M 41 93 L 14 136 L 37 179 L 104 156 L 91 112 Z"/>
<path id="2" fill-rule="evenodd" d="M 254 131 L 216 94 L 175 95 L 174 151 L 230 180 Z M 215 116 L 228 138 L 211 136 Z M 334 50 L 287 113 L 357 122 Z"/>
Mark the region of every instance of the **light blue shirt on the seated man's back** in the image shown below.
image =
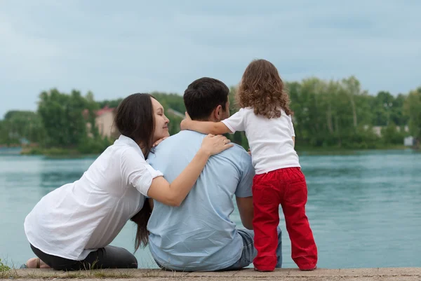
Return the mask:
<path id="1" fill-rule="evenodd" d="M 205 135 L 182 131 L 149 153 L 149 163 L 172 182 L 199 150 Z M 250 156 L 234 146 L 212 156 L 180 207 L 154 201 L 147 226 L 149 249 L 174 270 L 218 270 L 239 260 L 243 240 L 229 220 L 232 197 L 250 197 L 254 170 Z"/>

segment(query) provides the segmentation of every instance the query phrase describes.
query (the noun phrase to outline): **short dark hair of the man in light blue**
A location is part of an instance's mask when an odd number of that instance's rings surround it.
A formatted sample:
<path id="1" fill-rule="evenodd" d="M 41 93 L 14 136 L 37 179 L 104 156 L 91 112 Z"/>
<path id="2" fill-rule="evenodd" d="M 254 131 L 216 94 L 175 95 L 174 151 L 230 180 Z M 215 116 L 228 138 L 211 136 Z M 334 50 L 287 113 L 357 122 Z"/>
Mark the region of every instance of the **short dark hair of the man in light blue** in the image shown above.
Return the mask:
<path id="1" fill-rule="evenodd" d="M 203 120 L 210 116 L 213 109 L 225 105 L 228 101 L 229 88 L 218 79 L 203 77 L 193 81 L 183 96 L 185 107 L 190 118 Z"/>

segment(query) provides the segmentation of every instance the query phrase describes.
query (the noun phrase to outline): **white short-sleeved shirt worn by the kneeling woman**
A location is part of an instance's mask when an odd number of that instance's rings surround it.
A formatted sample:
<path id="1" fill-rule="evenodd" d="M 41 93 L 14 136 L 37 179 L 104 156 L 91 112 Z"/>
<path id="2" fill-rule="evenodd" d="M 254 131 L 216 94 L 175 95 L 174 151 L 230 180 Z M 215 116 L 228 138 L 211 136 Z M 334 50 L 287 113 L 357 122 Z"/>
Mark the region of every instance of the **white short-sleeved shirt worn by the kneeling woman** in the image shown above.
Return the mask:
<path id="1" fill-rule="evenodd" d="M 152 179 L 162 175 L 121 135 L 81 179 L 41 198 L 25 219 L 27 239 L 46 254 L 83 260 L 116 238 L 142 209 Z"/>

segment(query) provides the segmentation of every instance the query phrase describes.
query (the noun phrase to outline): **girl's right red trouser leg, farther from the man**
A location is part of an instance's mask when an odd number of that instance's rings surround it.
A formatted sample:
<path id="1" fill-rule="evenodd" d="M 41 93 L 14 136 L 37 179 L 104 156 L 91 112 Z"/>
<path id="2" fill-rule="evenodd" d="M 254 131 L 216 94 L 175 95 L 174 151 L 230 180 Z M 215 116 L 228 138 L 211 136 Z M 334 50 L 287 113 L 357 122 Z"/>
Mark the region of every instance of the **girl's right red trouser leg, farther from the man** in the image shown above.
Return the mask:
<path id="1" fill-rule="evenodd" d="M 305 214 L 307 184 L 300 168 L 282 169 L 286 190 L 281 200 L 286 230 L 291 240 L 291 257 L 300 270 L 313 270 L 317 263 L 317 247 L 312 228 Z"/>

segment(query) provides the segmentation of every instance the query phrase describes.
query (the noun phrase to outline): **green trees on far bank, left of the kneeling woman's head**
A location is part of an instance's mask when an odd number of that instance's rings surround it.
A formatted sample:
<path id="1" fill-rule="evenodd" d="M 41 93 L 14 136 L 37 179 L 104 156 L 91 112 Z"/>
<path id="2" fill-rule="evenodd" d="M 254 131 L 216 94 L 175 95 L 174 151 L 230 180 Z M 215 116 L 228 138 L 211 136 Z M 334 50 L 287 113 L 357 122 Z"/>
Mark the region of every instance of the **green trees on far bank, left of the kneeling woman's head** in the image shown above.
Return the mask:
<path id="1" fill-rule="evenodd" d="M 8 111 L 0 122 L 0 144 L 36 144 L 33 153 L 100 153 L 112 139 L 102 137 L 95 125 L 95 111 L 100 104 L 93 93 L 57 89 L 41 92 L 38 109 Z M 42 150 L 41 150 L 42 149 Z"/>

